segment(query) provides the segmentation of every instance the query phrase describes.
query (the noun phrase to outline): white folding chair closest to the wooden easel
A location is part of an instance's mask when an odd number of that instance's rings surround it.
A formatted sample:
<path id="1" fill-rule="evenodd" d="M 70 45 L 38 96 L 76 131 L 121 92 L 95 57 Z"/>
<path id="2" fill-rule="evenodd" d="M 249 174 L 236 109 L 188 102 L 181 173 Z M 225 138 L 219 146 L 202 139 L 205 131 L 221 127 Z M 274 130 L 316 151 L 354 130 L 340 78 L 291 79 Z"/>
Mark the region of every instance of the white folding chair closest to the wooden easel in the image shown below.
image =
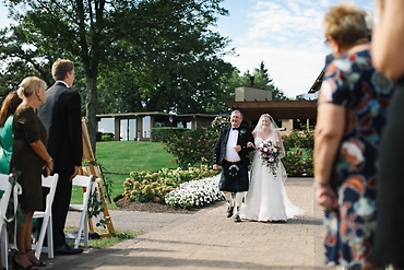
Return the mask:
<path id="1" fill-rule="evenodd" d="M 82 204 L 70 204 L 69 211 L 81 212 L 79 221 L 79 230 L 74 234 L 68 235 L 74 239 L 74 248 L 79 247 L 80 242 L 84 243 L 84 247 L 88 247 L 88 199 L 91 192 L 98 188 L 97 183 L 94 181 L 94 176 L 76 175 L 72 180 L 73 186 L 85 188 L 83 190 L 83 203 Z M 69 237 L 70 238 L 70 237 Z"/>

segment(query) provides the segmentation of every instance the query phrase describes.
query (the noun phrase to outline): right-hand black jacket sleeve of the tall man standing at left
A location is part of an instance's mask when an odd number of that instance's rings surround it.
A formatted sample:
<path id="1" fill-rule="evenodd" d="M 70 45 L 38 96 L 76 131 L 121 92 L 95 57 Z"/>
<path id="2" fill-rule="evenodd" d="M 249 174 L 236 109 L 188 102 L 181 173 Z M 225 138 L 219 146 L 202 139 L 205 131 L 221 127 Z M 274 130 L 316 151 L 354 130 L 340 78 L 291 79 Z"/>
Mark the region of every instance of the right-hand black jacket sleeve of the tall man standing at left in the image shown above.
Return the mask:
<path id="1" fill-rule="evenodd" d="M 74 166 L 81 166 L 83 159 L 83 139 L 81 120 L 81 97 L 73 92 L 68 106 L 68 125 L 72 145 L 72 157 Z"/>

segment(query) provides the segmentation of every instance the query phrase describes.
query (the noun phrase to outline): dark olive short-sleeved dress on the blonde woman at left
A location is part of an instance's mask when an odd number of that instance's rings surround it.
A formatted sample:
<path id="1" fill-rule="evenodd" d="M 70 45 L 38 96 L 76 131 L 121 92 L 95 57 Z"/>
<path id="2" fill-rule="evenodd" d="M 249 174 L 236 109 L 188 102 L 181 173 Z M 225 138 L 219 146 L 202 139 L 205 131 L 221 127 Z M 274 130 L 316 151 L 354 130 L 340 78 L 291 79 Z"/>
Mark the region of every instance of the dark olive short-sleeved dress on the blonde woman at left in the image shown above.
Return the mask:
<path id="1" fill-rule="evenodd" d="M 48 131 L 34 109 L 27 105 L 20 105 L 15 110 L 13 130 L 14 150 L 10 167 L 12 173 L 21 173 L 17 178 L 22 186 L 19 202 L 24 212 L 44 210 L 41 172 L 45 161 L 29 144 L 40 140 L 46 145 Z"/>

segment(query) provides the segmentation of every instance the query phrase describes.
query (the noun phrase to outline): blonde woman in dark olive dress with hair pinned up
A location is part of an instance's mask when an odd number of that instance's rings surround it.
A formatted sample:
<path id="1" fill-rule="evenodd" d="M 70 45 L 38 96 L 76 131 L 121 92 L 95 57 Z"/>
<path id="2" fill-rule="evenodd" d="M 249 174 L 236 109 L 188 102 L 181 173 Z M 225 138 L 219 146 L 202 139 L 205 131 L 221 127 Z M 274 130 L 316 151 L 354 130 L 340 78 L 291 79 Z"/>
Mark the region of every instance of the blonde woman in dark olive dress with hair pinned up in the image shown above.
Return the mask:
<path id="1" fill-rule="evenodd" d="M 13 267 L 23 269 L 37 269 L 45 266 L 35 258 L 32 251 L 32 227 L 34 211 L 43 210 L 41 172 L 54 169 L 54 162 L 46 144 L 48 131 L 36 115 L 36 109 L 45 104 L 46 83 L 37 77 L 27 77 L 17 90 L 23 99 L 16 108 L 13 119 L 13 154 L 10 169 L 19 174 L 17 181 L 22 187 L 19 196 L 21 209 L 25 213 L 25 224 L 16 232 L 17 251 L 13 257 Z"/>

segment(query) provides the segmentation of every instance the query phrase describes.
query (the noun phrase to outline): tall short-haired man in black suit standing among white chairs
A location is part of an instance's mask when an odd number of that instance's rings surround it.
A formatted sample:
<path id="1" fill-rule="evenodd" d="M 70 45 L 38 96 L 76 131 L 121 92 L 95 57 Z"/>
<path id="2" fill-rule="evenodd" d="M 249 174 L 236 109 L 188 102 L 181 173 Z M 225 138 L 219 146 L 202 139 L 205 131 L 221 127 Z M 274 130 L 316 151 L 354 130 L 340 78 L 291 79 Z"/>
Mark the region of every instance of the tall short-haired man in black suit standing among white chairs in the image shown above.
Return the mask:
<path id="1" fill-rule="evenodd" d="M 83 157 L 81 98 L 70 87 L 74 81 L 74 63 L 59 59 L 52 64 L 55 84 L 46 92 L 46 103 L 38 116 L 48 129 L 48 152 L 54 159 L 54 173 L 59 174 L 52 204 L 52 233 L 56 255 L 80 254 L 82 248 L 67 245 L 64 224 L 72 193 L 72 179 Z"/>

